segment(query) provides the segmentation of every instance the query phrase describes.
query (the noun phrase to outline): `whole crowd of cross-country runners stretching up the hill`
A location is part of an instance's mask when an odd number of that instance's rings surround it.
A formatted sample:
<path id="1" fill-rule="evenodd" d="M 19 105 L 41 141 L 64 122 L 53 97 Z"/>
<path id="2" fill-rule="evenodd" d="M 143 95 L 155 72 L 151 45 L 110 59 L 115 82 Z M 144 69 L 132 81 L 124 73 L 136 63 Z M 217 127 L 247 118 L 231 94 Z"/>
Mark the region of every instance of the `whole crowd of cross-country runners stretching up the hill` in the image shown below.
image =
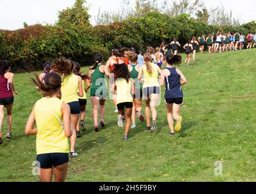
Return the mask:
<path id="1" fill-rule="evenodd" d="M 255 47 L 255 33 L 250 33 L 247 37 L 238 32 L 218 32 L 207 37 L 193 37 L 183 46 L 187 56 L 185 63 L 189 65 L 192 53 L 195 61 L 197 47 L 200 47 L 202 53 L 204 45 L 208 46 L 210 53 L 221 53 L 243 49 L 246 39 L 248 49 Z M 157 48 L 147 47 L 144 55 L 141 51 L 137 54 L 133 48 L 114 49 L 106 62 L 99 53 L 87 73 L 81 72 L 78 62 L 64 57 L 46 62 L 44 72 L 32 78 L 33 84 L 43 97 L 33 105 L 25 126 L 26 135 L 36 135 L 40 180 L 52 181 L 53 172 L 55 181 L 65 180 L 69 158 L 78 156 L 75 152 L 76 138 L 81 137 L 80 130 L 88 128 L 84 123 L 87 96 L 90 96 L 92 103 L 92 127 L 95 133 L 106 127 L 105 102 L 112 99 L 113 111 L 117 113 L 116 123 L 119 127 L 124 126 L 123 139 L 127 140 L 130 129 L 136 128 L 137 119 L 140 122 L 146 119 L 146 130 L 155 133 L 157 107 L 161 101 L 161 87 L 164 86 L 170 135 L 174 136 L 175 132 L 179 132 L 183 119 L 180 115 L 183 105 L 181 85 L 187 83 L 181 70 L 175 67 L 182 61 L 178 55 L 179 47 L 181 44 L 173 39 L 170 44 L 163 42 Z M 5 137 L 12 139 L 13 92 L 18 95 L 13 78 L 8 61 L 0 60 L 0 144 L 3 143 L 1 129 L 5 107 L 8 127 Z M 90 95 L 87 94 L 89 90 Z"/>

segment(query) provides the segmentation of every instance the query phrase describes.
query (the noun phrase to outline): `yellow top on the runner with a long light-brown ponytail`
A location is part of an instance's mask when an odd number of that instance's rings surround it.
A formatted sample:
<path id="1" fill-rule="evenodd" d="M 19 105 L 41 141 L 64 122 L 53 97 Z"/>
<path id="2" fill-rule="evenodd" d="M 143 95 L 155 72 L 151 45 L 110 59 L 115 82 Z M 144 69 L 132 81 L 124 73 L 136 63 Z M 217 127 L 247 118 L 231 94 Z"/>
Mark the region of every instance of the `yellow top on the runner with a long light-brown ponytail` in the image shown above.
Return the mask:
<path id="1" fill-rule="evenodd" d="M 160 87 L 158 82 L 158 65 L 151 63 L 151 69 L 152 73 L 149 73 L 145 64 L 142 67 L 144 75 L 143 89 L 146 87 Z"/>

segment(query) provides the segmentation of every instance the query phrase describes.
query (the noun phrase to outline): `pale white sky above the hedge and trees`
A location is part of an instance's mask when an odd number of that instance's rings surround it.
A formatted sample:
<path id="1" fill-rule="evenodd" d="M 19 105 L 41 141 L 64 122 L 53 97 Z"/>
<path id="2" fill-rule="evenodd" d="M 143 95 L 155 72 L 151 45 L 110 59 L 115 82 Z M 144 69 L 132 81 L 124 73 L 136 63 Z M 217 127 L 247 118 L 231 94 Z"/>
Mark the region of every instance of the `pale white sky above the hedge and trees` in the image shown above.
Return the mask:
<path id="1" fill-rule="evenodd" d="M 135 0 L 131 0 L 134 2 Z M 169 0 L 172 1 L 172 0 Z M 207 8 L 223 5 L 226 10 L 231 10 L 235 18 L 242 22 L 256 21 L 255 0 L 202 0 Z M 23 23 L 32 25 L 54 24 L 58 19 L 58 11 L 71 7 L 75 0 L 0 0 L 0 28 L 16 30 L 23 27 Z M 91 23 L 95 24 L 98 9 L 115 11 L 120 7 L 120 0 L 87 0 L 90 5 L 89 13 Z"/>

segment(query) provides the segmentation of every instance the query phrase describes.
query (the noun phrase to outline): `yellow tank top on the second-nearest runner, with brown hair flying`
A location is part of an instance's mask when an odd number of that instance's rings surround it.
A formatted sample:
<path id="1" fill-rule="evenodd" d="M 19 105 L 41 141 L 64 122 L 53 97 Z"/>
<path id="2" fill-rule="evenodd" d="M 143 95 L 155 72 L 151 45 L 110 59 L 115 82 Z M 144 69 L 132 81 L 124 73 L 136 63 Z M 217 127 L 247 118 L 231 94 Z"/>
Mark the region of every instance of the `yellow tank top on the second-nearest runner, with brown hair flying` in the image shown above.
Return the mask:
<path id="1" fill-rule="evenodd" d="M 78 101 L 78 76 L 68 75 L 61 84 L 61 100 L 69 103 Z"/>

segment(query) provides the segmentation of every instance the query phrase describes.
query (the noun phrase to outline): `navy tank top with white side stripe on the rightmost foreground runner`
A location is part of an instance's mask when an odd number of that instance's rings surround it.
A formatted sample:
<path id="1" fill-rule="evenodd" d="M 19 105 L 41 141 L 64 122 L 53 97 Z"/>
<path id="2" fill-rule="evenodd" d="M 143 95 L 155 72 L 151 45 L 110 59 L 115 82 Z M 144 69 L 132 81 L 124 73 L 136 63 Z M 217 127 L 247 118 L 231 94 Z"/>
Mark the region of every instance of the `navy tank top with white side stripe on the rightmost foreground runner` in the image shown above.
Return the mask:
<path id="1" fill-rule="evenodd" d="M 166 95 L 165 98 L 183 98 L 183 92 L 180 87 L 180 75 L 178 75 L 175 67 L 166 68 L 170 71 L 170 75 L 165 78 Z"/>

